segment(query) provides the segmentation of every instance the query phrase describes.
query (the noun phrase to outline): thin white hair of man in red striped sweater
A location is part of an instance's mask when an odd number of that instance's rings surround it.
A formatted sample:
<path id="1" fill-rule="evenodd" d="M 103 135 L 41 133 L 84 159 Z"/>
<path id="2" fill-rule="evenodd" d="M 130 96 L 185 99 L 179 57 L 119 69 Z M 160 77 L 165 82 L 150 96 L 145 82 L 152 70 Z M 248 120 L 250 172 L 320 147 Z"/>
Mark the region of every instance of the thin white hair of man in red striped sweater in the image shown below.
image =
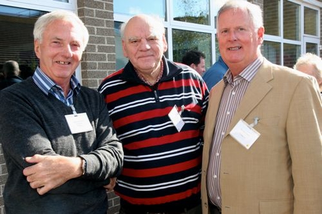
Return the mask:
<path id="1" fill-rule="evenodd" d="M 156 29 L 156 32 L 159 34 L 159 35 L 164 35 L 165 32 L 166 32 L 166 29 L 165 29 L 165 25 L 164 25 L 164 21 L 159 18 L 158 16 L 156 15 L 146 15 L 146 14 L 138 14 L 138 15 L 135 15 L 133 17 L 131 17 L 128 21 L 124 22 L 121 24 L 120 26 L 120 33 L 121 33 L 121 38 L 124 39 L 124 31 L 125 31 L 125 28 L 128 24 L 128 22 L 133 19 L 133 18 L 142 18 L 144 20 L 146 20 L 147 22 L 152 22 L 152 25 L 154 29 Z"/>

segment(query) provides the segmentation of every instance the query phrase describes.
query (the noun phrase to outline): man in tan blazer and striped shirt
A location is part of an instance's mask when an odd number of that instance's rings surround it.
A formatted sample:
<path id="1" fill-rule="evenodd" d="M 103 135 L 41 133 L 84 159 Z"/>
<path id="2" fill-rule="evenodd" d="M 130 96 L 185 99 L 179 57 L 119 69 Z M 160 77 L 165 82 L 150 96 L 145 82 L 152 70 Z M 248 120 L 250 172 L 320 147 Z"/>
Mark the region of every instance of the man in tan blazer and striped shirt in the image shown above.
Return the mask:
<path id="1" fill-rule="evenodd" d="M 322 100 L 311 76 L 266 60 L 261 9 L 218 12 L 229 69 L 210 92 L 202 162 L 203 213 L 322 213 Z"/>

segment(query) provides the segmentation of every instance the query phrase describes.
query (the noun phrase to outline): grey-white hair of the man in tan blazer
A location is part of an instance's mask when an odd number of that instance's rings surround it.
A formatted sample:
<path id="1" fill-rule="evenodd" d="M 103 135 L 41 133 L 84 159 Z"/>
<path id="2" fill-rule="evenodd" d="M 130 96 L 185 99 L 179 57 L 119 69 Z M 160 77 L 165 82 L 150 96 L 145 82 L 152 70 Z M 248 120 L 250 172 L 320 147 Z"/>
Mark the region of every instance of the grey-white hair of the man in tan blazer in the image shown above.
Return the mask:
<path id="1" fill-rule="evenodd" d="M 246 9 L 252 22 L 254 25 L 255 30 L 258 30 L 260 27 L 264 26 L 263 24 L 263 11 L 260 6 L 252 4 L 247 1 L 240 1 L 240 0 L 230 0 L 226 2 L 218 11 L 217 14 L 217 26 L 219 16 L 222 12 L 227 11 L 229 9 Z"/>

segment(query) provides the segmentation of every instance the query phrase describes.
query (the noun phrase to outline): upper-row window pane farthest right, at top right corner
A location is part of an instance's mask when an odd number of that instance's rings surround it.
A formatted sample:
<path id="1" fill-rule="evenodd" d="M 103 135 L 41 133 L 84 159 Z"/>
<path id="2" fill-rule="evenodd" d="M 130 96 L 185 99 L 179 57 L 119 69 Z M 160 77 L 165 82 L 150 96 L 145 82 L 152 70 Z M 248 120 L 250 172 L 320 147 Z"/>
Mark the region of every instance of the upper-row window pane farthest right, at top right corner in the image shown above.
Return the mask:
<path id="1" fill-rule="evenodd" d="M 317 11 L 304 7 L 304 34 L 317 36 Z"/>

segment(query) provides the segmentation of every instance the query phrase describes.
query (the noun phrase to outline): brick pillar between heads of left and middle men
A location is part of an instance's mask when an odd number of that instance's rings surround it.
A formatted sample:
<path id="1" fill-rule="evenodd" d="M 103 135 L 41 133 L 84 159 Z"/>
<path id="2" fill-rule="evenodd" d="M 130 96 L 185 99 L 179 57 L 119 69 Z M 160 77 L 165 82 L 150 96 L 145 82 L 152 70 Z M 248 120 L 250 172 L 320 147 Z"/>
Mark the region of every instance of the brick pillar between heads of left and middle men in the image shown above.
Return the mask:
<path id="1" fill-rule="evenodd" d="M 97 88 L 115 71 L 113 0 L 77 0 L 77 11 L 90 33 L 83 54 L 82 84 Z"/>

